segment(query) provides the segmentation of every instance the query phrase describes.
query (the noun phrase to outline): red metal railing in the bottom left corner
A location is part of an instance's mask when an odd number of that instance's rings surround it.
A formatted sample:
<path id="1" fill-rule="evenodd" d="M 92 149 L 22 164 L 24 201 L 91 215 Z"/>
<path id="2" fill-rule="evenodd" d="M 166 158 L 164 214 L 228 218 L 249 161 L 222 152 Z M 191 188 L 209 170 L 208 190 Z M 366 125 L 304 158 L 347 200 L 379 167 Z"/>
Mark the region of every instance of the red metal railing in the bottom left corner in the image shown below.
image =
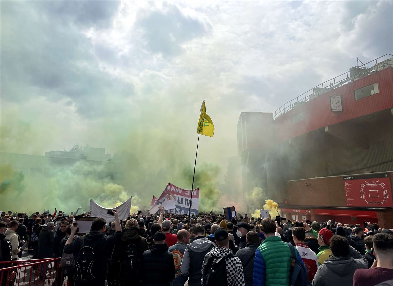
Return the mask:
<path id="1" fill-rule="evenodd" d="M 0 262 L 0 286 L 66 285 L 60 258 Z"/>

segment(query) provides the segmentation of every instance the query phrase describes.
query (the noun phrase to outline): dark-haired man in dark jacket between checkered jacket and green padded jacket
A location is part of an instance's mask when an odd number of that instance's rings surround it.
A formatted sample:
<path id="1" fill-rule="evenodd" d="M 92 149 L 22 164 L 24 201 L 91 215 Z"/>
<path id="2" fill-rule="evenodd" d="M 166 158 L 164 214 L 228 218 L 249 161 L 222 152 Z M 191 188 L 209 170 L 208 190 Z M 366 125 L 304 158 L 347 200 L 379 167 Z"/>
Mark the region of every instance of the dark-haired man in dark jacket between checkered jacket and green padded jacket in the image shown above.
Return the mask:
<path id="1" fill-rule="evenodd" d="M 249 231 L 246 235 L 246 240 L 246 247 L 239 249 L 236 256 L 239 257 L 243 265 L 244 284 L 252 286 L 255 251 L 259 246 L 259 234 L 256 231 Z"/>

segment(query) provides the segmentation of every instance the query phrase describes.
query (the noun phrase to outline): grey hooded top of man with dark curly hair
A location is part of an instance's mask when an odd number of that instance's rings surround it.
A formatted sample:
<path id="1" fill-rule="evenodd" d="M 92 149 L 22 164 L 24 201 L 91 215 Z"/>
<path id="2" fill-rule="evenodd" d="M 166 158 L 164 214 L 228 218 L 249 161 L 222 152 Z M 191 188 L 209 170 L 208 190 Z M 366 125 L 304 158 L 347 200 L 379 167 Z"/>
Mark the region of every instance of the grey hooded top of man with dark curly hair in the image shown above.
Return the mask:
<path id="1" fill-rule="evenodd" d="M 351 286 L 357 269 L 367 269 L 368 262 L 359 251 L 349 247 L 349 257 L 331 257 L 325 260 L 312 280 L 314 286 Z"/>

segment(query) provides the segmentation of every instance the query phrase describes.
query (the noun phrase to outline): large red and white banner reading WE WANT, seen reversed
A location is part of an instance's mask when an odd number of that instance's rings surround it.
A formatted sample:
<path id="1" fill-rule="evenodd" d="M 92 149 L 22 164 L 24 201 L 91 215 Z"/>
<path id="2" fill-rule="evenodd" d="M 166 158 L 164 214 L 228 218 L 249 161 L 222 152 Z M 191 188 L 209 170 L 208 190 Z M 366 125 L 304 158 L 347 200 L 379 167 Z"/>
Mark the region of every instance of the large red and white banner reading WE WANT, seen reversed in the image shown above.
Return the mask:
<path id="1" fill-rule="evenodd" d="M 149 209 L 150 213 L 156 213 L 163 206 L 165 211 L 172 214 L 188 214 L 191 205 L 191 215 L 199 213 L 199 188 L 192 192 L 193 201 L 191 204 L 191 190 L 181 189 L 168 183 L 158 198 L 156 203 Z"/>

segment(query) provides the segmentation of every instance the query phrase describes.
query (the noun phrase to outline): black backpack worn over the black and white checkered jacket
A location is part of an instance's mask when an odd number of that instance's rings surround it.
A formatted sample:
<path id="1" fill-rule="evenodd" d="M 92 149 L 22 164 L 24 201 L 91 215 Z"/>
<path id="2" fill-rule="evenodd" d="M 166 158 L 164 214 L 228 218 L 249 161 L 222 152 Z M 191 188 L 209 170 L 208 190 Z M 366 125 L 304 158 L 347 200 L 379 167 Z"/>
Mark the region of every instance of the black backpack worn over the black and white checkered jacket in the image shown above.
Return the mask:
<path id="1" fill-rule="evenodd" d="M 225 257 L 215 257 L 209 253 L 205 256 L 202 264 L 203 286 L 228 286 L 225 260 L 231 256 L 234 255 L 230 253 Z"/>

